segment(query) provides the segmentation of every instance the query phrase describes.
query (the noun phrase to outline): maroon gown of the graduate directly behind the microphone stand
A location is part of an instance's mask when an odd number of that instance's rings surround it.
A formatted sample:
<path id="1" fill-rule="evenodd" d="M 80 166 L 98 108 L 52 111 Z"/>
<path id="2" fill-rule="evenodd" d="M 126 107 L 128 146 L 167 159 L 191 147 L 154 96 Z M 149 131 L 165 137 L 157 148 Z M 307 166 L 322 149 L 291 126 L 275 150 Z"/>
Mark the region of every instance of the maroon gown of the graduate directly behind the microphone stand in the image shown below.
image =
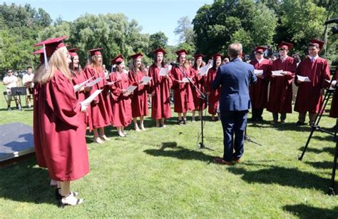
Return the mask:
<path id="1" fill-rule="evenodd" d="M 205 93 L 205 82 L 207 81 L 207 76 L 198 76 L 199 70 L 194 69 L 194 74 L 195 74 L 195 86 L 200 89 L 203 93 Z M 194 105 L 195 105 L 195 111 L 203 111 L 207 107 L 205 104 L 205 100 L 200 98 L 200 93 L 195 89 L 195 87 L 192 87 L 193 89 L 193 96 L 194 96 Z M 202 108 L 200 108 L 202 103 Z"/>

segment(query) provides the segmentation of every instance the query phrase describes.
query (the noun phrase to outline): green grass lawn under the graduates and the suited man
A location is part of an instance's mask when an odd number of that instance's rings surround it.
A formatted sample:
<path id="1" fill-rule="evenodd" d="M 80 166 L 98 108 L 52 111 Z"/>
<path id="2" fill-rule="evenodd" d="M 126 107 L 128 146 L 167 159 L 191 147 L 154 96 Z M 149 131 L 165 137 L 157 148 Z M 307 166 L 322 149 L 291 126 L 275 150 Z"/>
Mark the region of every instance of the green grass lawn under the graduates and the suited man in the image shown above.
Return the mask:
<path id="1" fill-rule="evenodd" d="M 0 100 L 0 124 L 32 125 L 32 111 L 7 112 Z M 334 143 L 316 132 L 297 161 L 309 135 L 309 127 L 295 126 L 297 113 L 284 125 L 270 125 L 266 112 L 267 122 L 250 123 L 248 134 L 262 146 L 246 142 L 233 167 L 212 163 L 222 156 L 220 122 L 205 123 L 205 143 L 215 151 L 201 151 L 200 123 L 176 126 L 173 116 L 168 128 L 147 118 L 147 131 L 130 130 L 127 138 L 107 128 L 111 141 L 99 146 L 88 135 L 91 172 L 72 184 L 83 205 L 59 209 L 35 158 L 0 168 L 0 218 L 337 218 L 338 197 L 325 194 Z M 334 123 L 326 113 L 320 124 Z"/>

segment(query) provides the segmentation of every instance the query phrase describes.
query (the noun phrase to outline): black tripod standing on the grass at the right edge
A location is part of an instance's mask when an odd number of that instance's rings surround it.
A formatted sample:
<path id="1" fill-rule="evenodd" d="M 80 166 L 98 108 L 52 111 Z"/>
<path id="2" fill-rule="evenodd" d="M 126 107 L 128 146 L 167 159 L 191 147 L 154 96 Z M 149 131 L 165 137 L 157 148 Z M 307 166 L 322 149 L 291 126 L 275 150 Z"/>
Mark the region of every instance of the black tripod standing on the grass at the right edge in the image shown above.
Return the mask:
<path id="1" fill-rule="evenodd" d="M 337 71 L 337 68 L 336 68 Z M 330 81 L 330 85 L 332 84 L 334 76 L 332 77 L 331 81 Z M 325 92 L 325 96 L 324 99 L 321 103 L 321 109 L 319 111 L 319 113 L 317 113 L 316 118 L 314 119 L 314 123 L 311 124 L 311 132 L 309 133 L 309 138 L 307 138 L 307 143 L 304 146 L 304 149 L 302 151 L 302 155 L 298 157 L 299 161 L 302 161 L 302 158 L 304 157 L 304 153 L 305 151 L 307 151 L 307 147 L 309 146 L 309 141 L 312 138 L 312 135 L 314 133 L 314 131 L 322 131 L 324 133 L 327 133 L 331 136 L 334 136 L 334 141 L 336 142 L 336 148 L 335 148 L 335 152 L 334 152 L 334 161 L 333 161 L 333 167 L 332 167 L 332 175 L 331 175 L 331 182 L 330 182 L 330 187 L 329 187 L 329 195 L 335 195 L 335 191 L 334 191 L 334 178 L 336 175 L 336 169 L 337 169 L 337 156 L 338 156 L 338 139 L 337 139 L 337 127 L 338 127 L 338 119 L 336 119 L 336 126 L 334 128 L 334 133 L 331 133 L 323 128 L 321 128 L 319 126 L 319 121 L 323 116 L 324 113 L 324 109 L 327 106 L 327 102 L 329 101 L 329 98 L 332 94 L 334 94 L 336 91 L 335 88 L 327 88 L 327 91 Z M 324 103 L 324 105 L 323 105 Z"/>

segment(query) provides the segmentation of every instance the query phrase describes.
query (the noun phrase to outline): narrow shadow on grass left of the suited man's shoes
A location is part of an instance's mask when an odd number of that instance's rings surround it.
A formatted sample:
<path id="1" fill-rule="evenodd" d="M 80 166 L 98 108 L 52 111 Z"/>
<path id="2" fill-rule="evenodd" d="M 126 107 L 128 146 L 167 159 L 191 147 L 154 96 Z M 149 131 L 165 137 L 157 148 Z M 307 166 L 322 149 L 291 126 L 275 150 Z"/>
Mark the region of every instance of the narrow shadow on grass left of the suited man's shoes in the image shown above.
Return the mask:
<path id="1" fill-rule="evenodd" d="M 170 150 L 167 150 L 167 149 Z M 176 142 L 163 142 L 159 149 L 148 149 L 143 151 L 148 155 L 155 157 L 170 157 L 180 160 L 196 160 L 212 163 L 214 156 L 209 156 L 201 151 L 193 151 L 182 146 L 178 146 Z"/>

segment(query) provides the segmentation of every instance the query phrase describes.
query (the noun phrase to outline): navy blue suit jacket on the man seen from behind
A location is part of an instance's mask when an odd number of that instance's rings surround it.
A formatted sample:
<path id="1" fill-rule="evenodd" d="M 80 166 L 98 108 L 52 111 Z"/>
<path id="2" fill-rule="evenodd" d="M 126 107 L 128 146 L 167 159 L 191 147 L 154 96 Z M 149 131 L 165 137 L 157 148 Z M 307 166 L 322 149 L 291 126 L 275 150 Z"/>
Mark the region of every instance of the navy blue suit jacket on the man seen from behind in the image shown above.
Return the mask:
<path id="1" fill-rule="evenodd" d="M 212 89 L 221 86 L 220 111 L 245 111 L 250 108 L 249 85 L 255 83 L 257 77 L 254 67 L 234 58 L 217 70 Z"/>

